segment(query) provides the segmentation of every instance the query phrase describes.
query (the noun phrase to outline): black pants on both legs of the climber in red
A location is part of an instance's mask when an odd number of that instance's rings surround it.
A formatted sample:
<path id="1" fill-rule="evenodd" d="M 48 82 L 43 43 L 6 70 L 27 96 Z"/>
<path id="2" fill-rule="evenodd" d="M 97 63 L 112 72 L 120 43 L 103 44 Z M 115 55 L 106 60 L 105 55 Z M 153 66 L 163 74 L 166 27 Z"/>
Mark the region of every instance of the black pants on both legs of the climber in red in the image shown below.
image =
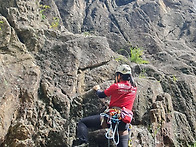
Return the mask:
<path id="1" fill-rule="evenodd" d="M 118 129 L 119 131 L 125 131 L 129 127 L 128 124 L 120 122 Z M 77 136 L 81 142 L 88 142 L 88 128 L 101 129 L 100 115 L 93 115 L 83 118 L 78 123 Z M 128 147 L 128 135 L 120 136 L 120 142 L 118 147 Z"/>

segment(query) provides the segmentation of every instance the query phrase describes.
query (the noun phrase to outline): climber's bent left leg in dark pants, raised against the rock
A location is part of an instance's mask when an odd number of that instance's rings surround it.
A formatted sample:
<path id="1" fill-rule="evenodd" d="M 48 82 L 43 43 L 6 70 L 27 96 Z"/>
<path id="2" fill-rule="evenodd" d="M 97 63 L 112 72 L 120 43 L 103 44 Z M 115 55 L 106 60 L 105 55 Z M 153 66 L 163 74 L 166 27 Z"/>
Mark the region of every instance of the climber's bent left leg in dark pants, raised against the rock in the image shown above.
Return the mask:
<path id="1" fill-rule="evenodd" d="M 80 120 L 77 128 L 77 136 L 81 143 L 88 142 L 88 128 L 101 129 L 100 115 L 88 116 Z"/>

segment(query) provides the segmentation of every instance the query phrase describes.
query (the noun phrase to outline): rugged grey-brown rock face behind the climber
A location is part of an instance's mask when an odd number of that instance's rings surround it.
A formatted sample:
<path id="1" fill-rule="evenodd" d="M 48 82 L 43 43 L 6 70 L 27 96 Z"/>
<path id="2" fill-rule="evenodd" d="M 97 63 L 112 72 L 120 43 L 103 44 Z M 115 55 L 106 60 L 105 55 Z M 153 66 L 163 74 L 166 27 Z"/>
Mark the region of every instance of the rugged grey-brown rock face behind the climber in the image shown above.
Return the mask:
<path id="1" fill-rule="evenodd" d="M 121 63 L 130 64 L 138 84 L 132 145 L 194 144 L 195 4 L 0 0 L 0 146 L 71 147 L 78 120 L 108 104 L 91 88 L 113 83 Z M 149 64 L 117 54 L 130 45 Z M 90 146 L 107 142 L 104 130 L 90 132 Z"/>

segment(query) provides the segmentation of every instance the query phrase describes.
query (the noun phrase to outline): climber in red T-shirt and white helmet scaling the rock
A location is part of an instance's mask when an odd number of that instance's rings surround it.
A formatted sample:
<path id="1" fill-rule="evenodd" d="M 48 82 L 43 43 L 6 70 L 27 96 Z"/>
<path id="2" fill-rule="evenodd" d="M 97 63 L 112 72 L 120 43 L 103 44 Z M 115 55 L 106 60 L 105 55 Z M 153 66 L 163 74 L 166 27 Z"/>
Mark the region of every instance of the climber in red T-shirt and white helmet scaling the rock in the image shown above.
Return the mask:
<path id="1" fill-rule="evenodd" d="M 109 128 L 107 115 L 111 112 L 121 112 L 118 117 L 119 142 L 117 147 L 128 147 L 128 128 L 132 119 L 132 107 L 136 97 L 136 84 L 133 81 L 131 68 L 129 65 L 123 64 L 119 66 L 115 74 L 115 83 L 104 91 L 100 90 L 100 86 L 93 87 L 99 98 L 110 96 L 109 109 L 106 115 L 93 115 L 80 120 L 77 127 L 77 136 L 79 144 L 88 143 L 88 128 L 101 129 Z M 124 113 L 123 113 L 124 112 Z M 103 114 L 103 113 L 102 113 Z M 110 116 L 109 116 L 110 117 Z M 114 126 L 113 126 L 114 127 Z"/>

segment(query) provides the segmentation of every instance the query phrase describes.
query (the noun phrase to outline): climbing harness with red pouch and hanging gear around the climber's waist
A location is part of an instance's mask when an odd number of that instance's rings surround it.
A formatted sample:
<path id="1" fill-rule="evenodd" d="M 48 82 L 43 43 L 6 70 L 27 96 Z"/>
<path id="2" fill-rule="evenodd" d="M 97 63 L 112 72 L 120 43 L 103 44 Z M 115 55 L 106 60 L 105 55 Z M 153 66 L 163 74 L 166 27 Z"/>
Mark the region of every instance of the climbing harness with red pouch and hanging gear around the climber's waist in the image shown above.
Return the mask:
<path id="1" fill-rule="evenodd" d="M 131 110 L 123 107 L 122 109 L 119 107 L 113 107 L 111 109 L 106 109 L 101 116 L 101 125 L 104 121 L 104 118 L 107 118 L 106 123 L 109 125 L 107 132 L 105 133 L 105 137 L 109 140 L 112 139 L 115 145 L 119 143 L 119 132 L 118 125 L 120 121 L 125 123 L 130 123 L 132 120 L 133 112 Z M 115 140 L 115 135 L 117 135 L 117 139 Z"/>

